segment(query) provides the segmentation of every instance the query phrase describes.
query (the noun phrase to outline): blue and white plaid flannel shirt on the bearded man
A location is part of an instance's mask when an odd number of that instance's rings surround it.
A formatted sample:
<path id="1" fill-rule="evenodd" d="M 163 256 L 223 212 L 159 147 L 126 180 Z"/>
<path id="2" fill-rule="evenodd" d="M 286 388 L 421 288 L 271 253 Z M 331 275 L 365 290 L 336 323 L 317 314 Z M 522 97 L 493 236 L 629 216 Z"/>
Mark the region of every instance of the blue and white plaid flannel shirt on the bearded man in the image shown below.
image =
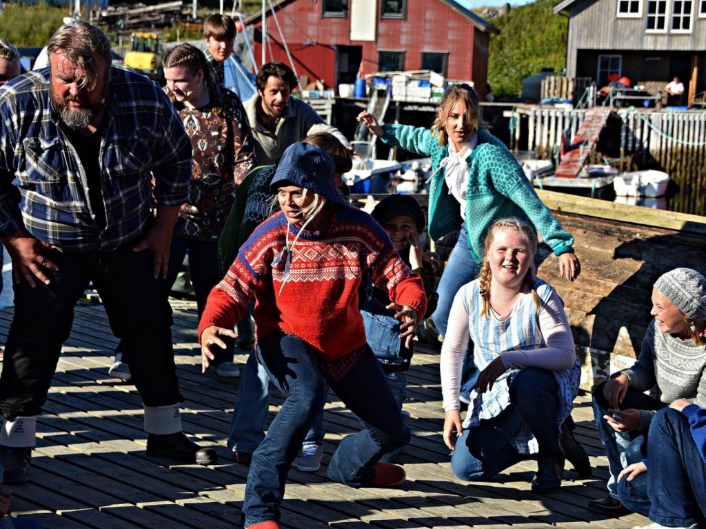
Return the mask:
<path id="1" fill-rule="evenodd" d="M 108 97 L 97 132 L 100 230 L 89 181 L 49 100 L 49 69 L 0 90 L 0 237 L 24 228 L 61 251 L 111 251 L 143 232 L 152 193 L 164 206 L 186 201 L 191 142 L 167 96 L 144 76 L 113 67 Z"/>

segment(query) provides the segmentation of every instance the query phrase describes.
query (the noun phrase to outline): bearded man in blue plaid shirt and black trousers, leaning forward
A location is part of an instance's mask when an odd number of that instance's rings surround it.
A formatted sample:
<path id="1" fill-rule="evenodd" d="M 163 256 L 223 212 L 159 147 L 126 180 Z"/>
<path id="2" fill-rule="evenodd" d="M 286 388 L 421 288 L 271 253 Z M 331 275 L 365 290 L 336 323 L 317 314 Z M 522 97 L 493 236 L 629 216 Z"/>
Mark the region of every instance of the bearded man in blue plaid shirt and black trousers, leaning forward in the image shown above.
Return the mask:
<path id="1" fill-rule="evenodd" d="M 0 378 L 4 482 L 29 479 L 37 415 L 90 282 L 130 355 L 148 456 L 215 463 L 181 432 L 163 285 L 189 137 L 159 86 L 111 66 L 99 29 L 66 24 L 48 52 L 49 69 L 0 90 L 0 238 L 16 283 Z"/>

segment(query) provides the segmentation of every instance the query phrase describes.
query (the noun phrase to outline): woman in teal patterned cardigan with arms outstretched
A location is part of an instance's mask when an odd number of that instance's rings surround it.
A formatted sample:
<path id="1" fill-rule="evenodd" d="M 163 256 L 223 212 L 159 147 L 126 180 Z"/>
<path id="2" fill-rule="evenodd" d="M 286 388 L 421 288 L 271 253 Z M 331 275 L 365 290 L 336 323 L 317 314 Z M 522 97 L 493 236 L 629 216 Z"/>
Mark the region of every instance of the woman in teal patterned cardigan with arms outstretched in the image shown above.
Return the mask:
<path id="1" fill-rule="evenodd" d="M 469 85 L 448 88 L 431 129 L 380 126 L 369 112 L 361 112 L 358 120 L 388 145 L 431 157 L 429 236 L 436 240 L 461 227 L 431 315 L 441 335 L 446 333 L 453 297 L 475 278 L 486 233 L 498 218 L 515 217 L 534 226 L 558 256 L 561 276 L 571 281 L 578 277 L 573 237 L 539 200 L 510 150 L 485 129 L 478 95 Z M 470 372 L 463 379 L 462 396 L 475 382 Z"/>

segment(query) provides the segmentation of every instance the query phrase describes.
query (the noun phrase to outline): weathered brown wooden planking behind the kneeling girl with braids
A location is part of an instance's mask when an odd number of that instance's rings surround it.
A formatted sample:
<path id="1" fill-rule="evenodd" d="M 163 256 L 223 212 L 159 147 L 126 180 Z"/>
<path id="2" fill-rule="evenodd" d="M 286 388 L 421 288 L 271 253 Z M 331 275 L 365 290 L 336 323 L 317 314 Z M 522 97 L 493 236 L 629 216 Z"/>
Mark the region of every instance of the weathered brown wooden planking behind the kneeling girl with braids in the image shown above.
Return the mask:
<path id="1" fill-rule="evenodd" d="M 706 273 L 706 218 L 537 191 L 575 238 L 581 275 L 558 275 L 555 256 L 539 267 L 566 304 L 589 388 L 640 352 L 651 320 L 652 285 L 684 266 Z"/>

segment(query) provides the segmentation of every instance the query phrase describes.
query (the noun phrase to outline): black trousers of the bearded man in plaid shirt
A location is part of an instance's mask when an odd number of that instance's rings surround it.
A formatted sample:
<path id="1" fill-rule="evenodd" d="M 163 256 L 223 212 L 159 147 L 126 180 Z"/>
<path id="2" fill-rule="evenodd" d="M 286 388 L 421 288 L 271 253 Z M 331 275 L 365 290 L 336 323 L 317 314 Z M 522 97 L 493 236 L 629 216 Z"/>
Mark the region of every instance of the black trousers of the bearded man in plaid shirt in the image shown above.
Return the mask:
<path id="1" fill-rule="evenodd" d="M 15 313 L 0 376 L 0 412 L 6 419 L 39 415 L 71 333 L 73 309 L 92 281 L 112 332 L 125 343 L 132 381 L 143 403 L 163 406 L 184 400 L 172 349 L 172 309 L 164 280 L 154 279 L 152 252 L 132 246 L 105 253 L 48 251 L 59 267 L 51 283 L 14 285 Z M 107 354 L 112 354 L 107 352 Z"/>

